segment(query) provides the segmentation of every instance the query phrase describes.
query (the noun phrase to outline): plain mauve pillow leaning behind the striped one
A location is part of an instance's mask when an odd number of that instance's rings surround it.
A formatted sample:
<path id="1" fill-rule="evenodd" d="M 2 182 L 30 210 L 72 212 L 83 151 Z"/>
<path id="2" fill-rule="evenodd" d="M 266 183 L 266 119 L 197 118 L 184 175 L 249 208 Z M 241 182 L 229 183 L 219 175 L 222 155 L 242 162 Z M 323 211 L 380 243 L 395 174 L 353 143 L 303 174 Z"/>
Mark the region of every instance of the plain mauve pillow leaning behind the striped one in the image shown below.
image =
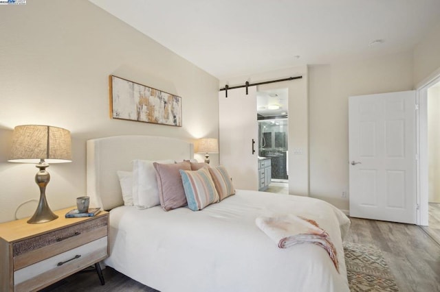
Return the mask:
<path id="1" fill-rule="evenodd" d="M 179 170 L 191 170 L 190 162 L 183 161 L 173 165 L 155 162 L 153 165 L 156 169 L 160 206 L 166 211 L 186 206 L 186 196 Z"/>

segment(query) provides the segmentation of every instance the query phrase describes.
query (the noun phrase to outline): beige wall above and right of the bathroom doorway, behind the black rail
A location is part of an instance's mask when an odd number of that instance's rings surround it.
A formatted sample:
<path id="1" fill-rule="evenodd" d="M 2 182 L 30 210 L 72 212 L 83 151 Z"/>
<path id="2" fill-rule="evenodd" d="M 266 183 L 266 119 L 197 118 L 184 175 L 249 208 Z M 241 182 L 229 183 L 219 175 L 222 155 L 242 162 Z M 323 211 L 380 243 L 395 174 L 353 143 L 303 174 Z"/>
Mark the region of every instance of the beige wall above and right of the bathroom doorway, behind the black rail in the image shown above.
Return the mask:
<path id="1" fill-rule="evenodd" d="M 289 193 L 295 195 L 309 195 L 309 110 L 307 109 L 307 71 L 307 66 L 298 66 L 284 70 L 220 80 L 220 87 L 223 88 L 225 84 L 235 86 L 245 84 L 246 81 L 249 81 L 250 84 L 252 84 L 255 82 L 303 76 L 303 78 L 299 80 L 265 84 L 257 88 L 257 90 L 268 90 L 272 88 L 288 88 L 289 90 Z M 256 108 L 250 110 L 256 112 Z M 257 127 L 256 114 L 255 127 Z M 294 148 L 303 149 L 303 154 L 293 154 Z"/>

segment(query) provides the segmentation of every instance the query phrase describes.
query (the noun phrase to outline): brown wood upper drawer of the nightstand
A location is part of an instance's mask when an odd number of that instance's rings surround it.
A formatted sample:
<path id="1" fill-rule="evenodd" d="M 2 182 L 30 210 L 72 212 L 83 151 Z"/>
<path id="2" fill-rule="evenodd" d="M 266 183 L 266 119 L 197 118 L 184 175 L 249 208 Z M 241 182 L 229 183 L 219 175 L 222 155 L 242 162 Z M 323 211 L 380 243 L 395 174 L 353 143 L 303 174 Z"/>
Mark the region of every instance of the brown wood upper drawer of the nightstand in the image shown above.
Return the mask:
<path id="1" fill-rule="evenodd" d="M 106 235 L 107 217 L 104 216 L 19 241 L 12 245 L 14 271 Z"/>

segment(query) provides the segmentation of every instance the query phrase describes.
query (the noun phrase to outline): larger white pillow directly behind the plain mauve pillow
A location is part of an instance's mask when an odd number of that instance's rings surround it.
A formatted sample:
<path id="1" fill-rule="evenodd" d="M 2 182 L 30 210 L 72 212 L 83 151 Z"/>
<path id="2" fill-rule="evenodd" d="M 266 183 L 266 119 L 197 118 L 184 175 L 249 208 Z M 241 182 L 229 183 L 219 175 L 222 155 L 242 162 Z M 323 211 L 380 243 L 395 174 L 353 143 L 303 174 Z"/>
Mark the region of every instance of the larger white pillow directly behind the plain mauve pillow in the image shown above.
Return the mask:
<path id="1" fill-rule="evenodd" d="M 138 209 L 160 205 L 156 170 L 153 162 L 173 164 L 174 160 L 133 160 L 133 204 Z"/>

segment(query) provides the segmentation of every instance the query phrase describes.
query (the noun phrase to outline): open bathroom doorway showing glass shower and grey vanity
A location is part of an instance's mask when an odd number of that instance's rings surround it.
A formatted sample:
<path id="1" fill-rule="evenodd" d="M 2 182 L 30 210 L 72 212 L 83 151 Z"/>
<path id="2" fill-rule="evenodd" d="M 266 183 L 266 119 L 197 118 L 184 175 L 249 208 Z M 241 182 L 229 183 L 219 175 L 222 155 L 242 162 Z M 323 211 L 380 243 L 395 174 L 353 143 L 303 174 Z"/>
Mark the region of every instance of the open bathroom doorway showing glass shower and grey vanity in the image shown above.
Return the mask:
<path id="1" fill-rule="evenodd" d="M 259 90 L 256 93 L 261 191 L 289 193 L 288 96 L 288 88 Z"/>

